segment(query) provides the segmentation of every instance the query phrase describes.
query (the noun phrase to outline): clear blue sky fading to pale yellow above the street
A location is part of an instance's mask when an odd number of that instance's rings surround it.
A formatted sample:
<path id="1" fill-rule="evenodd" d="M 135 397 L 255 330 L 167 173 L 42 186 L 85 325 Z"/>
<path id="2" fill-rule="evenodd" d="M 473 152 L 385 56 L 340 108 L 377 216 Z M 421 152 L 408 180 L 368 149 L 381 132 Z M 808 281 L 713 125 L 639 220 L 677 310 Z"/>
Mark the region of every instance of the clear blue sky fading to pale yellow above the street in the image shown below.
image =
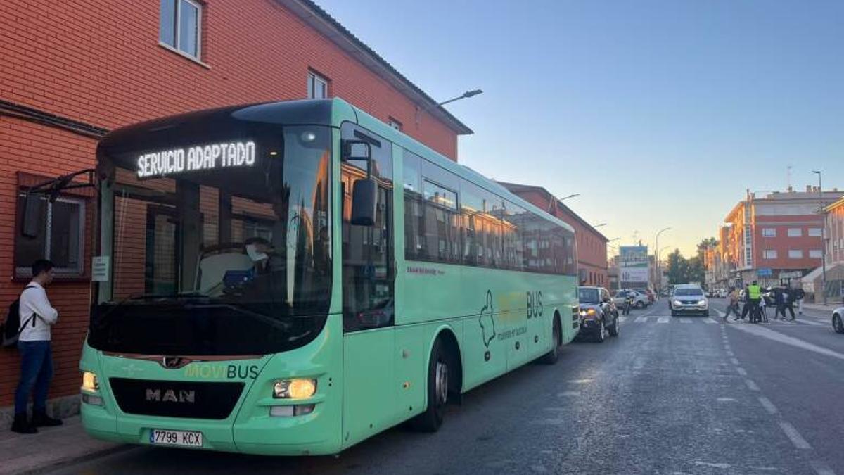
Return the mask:
<path id="1" fill-rule="evenodd" d="M 580 193 L 621 243 L 670 226 L 660 247 L 693 254 L 789 165 L 844 188 L 844 2 L 317 3 L 430 96 L 484 90 L 446 106 L 475 131 L 459 161 Z"/>

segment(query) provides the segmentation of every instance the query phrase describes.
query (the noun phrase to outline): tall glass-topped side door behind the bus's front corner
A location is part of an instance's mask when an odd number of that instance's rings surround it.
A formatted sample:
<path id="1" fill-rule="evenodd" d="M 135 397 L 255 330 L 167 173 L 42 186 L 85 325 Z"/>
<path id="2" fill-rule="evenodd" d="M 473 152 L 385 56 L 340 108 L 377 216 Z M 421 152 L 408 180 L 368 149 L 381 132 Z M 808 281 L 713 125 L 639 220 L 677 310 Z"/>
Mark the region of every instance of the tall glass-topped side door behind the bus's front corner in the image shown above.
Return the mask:
<path id="1" fill-rule="evenodd" d="M 371 145 L 378 183 L 375 225 L 352 225 L 352 189 L 366 177 L 366 163 L 342 162 L 343 438 L 351 444 L 395 422 L 392 144 L 352 123 L 344 123 L 341 137 Z"/>

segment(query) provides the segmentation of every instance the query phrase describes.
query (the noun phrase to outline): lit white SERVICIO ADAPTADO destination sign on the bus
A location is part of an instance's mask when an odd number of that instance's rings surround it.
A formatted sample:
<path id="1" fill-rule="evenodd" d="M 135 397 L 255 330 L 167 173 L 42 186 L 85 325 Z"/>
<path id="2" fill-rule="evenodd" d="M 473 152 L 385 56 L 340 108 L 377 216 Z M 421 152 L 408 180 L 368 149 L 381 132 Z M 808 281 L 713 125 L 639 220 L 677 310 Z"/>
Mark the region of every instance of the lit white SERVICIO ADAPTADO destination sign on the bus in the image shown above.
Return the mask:
<path id="1" fill-rule="evenodd" d="M 255 165 L 255 142 L 225 142 L 161 150 L 138 156 L 138 178 Z"/>

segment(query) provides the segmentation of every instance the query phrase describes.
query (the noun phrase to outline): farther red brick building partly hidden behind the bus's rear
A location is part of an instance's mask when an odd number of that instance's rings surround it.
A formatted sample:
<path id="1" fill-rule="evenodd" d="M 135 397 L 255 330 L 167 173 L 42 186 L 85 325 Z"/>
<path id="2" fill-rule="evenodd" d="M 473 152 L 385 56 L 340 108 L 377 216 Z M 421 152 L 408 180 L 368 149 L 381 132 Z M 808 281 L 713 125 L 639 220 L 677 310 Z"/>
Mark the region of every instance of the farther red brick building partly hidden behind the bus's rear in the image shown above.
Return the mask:
<path id="1" fill-rule="evenodd" d="M 499 183 L 509 189 L 511 193 L 517 194 L 522 199 L 542 210 L 547 210 L 550 214 L 571 225 L 575 229 L 578 280 L 584 286 L 609 288 L 607 270 L 607 243 L 609 239 L 568 206 L 563 205 L 547 189 L 533 185 Z"/>

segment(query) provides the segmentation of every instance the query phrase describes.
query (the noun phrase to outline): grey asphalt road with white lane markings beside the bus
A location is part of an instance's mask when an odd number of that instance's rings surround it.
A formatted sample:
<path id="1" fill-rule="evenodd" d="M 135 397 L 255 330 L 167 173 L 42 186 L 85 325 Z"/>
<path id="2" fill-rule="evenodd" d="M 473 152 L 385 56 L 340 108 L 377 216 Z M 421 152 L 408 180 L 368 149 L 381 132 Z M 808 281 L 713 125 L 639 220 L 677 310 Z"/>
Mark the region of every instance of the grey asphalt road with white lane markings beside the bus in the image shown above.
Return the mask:
<path id="1" fill-rule="evenodd" d="M 55 473 L 844 474 L 844 336 L 822 313 L 716 314 L 634 311 L 618 338 L 473 390 L 436 434 L 392 429 L 338 457 L 138 447 Z"/>

